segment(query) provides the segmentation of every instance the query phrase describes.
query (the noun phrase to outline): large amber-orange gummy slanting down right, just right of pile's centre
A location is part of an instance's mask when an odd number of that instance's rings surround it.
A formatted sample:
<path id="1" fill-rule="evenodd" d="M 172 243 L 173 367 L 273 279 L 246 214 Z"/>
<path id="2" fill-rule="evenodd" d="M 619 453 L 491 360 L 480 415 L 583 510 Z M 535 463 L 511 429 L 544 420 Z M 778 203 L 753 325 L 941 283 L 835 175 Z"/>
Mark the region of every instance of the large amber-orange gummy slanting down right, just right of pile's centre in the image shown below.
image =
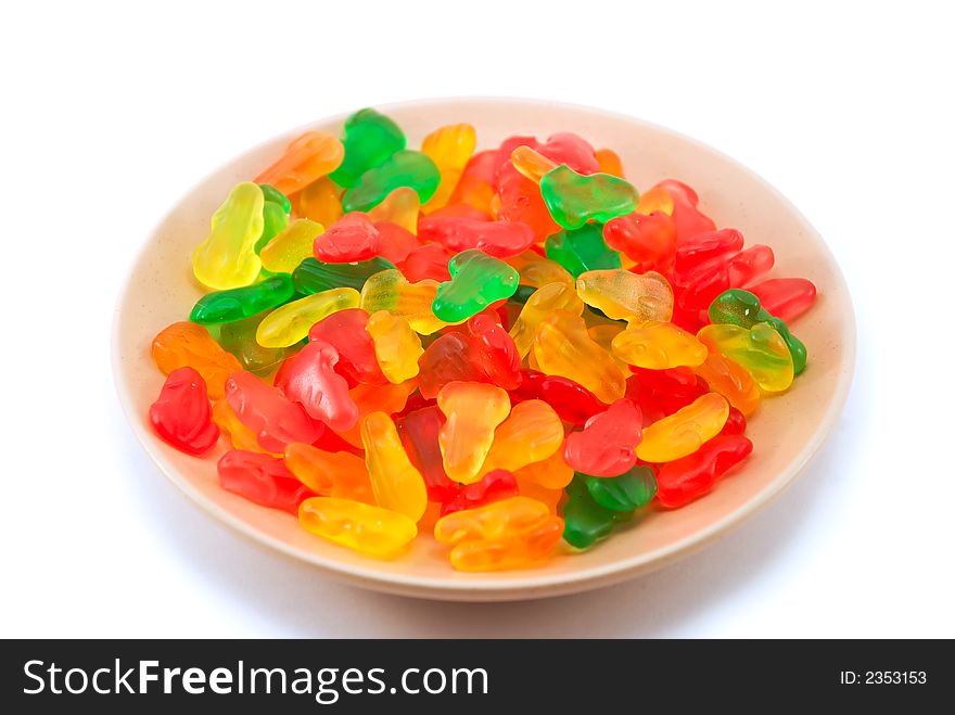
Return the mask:
<path id="1" fill-rule="evenodd" d="M 582 384 L 610 405 L 626 391 L 624 374 L 613 356 L 590 340 L 584 319 L 555 310 L 537 329 L 534 357 L 540 370 Z"/>

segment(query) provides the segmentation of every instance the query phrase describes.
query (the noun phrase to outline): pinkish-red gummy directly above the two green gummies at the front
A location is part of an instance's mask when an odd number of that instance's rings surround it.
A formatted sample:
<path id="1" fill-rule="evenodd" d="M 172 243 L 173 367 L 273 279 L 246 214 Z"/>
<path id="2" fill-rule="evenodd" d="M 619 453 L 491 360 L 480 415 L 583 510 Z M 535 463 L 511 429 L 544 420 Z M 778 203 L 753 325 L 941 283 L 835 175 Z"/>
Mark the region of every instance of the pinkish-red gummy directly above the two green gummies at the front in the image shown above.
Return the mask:
<path id="1" fill-rule="evenodd" d="M 636 463 L 634 447 L 641 433 L 639 408 L 622 398 L 566 436 L 563 459 L 574 471 L 590 476 L 617 476 Z"/>

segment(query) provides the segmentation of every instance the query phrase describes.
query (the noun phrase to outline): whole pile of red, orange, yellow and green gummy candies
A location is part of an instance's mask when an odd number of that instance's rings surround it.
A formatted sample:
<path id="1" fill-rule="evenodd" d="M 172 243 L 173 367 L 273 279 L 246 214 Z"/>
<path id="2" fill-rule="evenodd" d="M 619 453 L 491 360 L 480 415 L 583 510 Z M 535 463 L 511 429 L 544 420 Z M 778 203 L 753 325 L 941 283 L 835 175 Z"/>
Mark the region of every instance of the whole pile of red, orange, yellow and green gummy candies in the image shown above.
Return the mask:
<path id="1" fill-rule="evenodd" d="M 813 284 L 576 135 L 474 149 L 362 110 L 234 187 L 192 254 L 213 292 L 152 344 L 160 436 L 224 435 L 221 486 L 313 534 L 391 558 L 432 531 L 462 571 L 586 549 L 744 460 Z"/>

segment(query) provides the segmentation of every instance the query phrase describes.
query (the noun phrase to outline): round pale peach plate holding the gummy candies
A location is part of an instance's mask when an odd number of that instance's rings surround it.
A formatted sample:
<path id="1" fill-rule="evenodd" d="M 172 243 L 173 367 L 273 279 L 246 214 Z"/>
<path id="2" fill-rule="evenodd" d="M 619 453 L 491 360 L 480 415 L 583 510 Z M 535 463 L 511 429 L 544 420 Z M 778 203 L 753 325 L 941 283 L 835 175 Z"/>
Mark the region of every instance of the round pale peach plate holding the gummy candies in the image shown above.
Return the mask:
<path id="1" fill-rule="evenodd" d="M 646 189 L 680 179 L 700 195 L 700 208 L 721 227 L 743 232 L 747 245 L 776 253 L 772 276 L 801 276 L 818 289 L 813 309 L 793 322 L 810 365 L 784 396 L 763 400 L 747 434 L 752 457 L 712 494 L 678 510 L 651 511 L 639 524 L 590 551 L 561 556 L 532 570 L 488 574 L 451 570 L 445 549 L 419 536 L 408 554 L 377 561 L 309 535 L 284 512 L 258 507 L 218 486 L 219 446 L 205 458 L 162 442 L 149 423 L 149 406 L 163 375 L 150 357 L 152 337 L 183 320 L 202 291 L 192 278 L 190 252 L 229 189 L 257 175 L 301 132 L 339 133 L 344 116 L 322 119 L 276 137 L 235 157 L 189 191 L 148 235 L 116 307 L 113 367 L 119 399 L 137 438 L 160 471 L 199 507 L 249 538 L 329 575 L 379 591 L 442 600 L 533 599 L 598 588 L 647 573 L 700 549 L 752 515 L 791 483 L 831 431 L 849 392 L 855 363 L 855 323 L 845 281 L 808 221 L 773 187 L 734 159 L 692 139 L 646 122 L 582 106 L 514 99 L 416 101 L 378 107 L 418 146 L 435 127 L 469 122 L 479 149 L 522 133 L 538 138 L 574 131 L 595 146 L 614 149 L 627 178 Z M 175 528 L 169 524 L 169 528 Z"/>

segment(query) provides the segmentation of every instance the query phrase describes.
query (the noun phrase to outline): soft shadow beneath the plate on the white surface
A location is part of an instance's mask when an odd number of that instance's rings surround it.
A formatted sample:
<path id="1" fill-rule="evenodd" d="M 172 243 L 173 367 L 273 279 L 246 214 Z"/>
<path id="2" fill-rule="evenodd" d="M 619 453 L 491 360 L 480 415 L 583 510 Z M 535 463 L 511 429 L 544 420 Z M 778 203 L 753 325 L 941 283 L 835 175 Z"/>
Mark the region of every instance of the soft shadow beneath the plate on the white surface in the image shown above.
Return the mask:
<path id="1" fill-rule="evenodd" d="M 857 378 L 861 375 L 857 375 Z M 338 584 L 237 536 L 190 503 L 157 474 L 116 413 L 117 432 L 140 500 L 144 526 L 162 531 L 199 578 L 249 609 L 249 622 L 271 622 L 280 637 L 666 637 L 692 636 L 693 623 L 761 578 L 785 577 L 787 551 L 838 519 L 825 494 L 836 478 L 857 474 L 869 413 L 860 385 L 833 434 L 804 473 L 773 503 L 697 554 L 659 572 L 597 591 L 517 603 L 446 603 L 364 591 Z M 852 424 L 852 429 L 850 429 Z M 831 510 L 825 513 L 826 510 Z M 818 513 L 823 512 L 823 513 Z M 776 569 L 780 573 L 775 573 Z"/>

